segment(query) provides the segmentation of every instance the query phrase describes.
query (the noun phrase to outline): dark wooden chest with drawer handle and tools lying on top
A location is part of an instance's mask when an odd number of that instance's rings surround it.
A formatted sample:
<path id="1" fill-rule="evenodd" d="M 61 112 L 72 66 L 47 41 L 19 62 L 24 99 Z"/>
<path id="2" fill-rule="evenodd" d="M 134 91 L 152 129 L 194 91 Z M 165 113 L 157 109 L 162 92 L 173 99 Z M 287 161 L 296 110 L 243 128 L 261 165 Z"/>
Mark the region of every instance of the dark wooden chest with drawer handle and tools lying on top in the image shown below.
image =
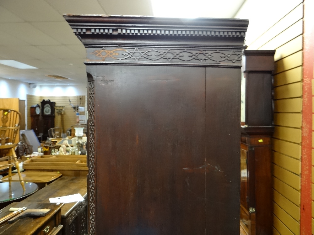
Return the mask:
<path id="1" fill-rule="evenodd" d="M 42 202 L 13 202 L 0 210 L 0 218 L 11 213 L 9 212 L 10 207 L 27 206 L 29 209 L 49 208 L 51 211 L 44 217 L 25 217 L 12 224 L 5 222 L 0 225 L 0 235 L 61 235 L 61 208 L 63 205 L 64 203 L 55 205 Z"/>

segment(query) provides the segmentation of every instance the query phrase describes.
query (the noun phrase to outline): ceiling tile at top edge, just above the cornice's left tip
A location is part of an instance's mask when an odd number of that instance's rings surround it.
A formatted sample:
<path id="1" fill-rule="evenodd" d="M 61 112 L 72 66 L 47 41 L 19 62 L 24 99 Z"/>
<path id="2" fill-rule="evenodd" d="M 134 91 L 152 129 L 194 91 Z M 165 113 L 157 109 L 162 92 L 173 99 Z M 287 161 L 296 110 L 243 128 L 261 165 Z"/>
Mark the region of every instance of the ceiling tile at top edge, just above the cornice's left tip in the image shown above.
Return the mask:
<path id="1" fill-rule="evenodd" d="M 97 0 L 46 0 L 61 14 L 106 14 Z"/>

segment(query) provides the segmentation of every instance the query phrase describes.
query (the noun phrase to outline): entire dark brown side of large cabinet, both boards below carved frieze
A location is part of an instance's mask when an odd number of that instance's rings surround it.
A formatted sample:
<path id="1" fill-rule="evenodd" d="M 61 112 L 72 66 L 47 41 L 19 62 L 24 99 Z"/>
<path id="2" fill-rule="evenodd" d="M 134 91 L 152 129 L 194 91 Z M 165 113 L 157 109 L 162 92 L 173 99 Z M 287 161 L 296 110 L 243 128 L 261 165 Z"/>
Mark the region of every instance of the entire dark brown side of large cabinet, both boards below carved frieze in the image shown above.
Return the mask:
<path id="1" fill-rule="evenodd" d="M 95 77 L 96 234 L 239 231 L 240 70 L 88 70 Z"/>

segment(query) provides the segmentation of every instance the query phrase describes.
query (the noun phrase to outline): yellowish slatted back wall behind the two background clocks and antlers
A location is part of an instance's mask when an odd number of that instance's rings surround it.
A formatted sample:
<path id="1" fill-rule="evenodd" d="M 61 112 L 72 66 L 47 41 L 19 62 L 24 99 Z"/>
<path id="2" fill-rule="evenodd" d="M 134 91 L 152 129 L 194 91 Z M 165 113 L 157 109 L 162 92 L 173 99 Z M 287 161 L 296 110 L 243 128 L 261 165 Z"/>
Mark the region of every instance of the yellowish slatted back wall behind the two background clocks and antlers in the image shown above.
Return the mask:
<path id="1" fill-rule="evenodd" d="M 71 103 L 73 105 L 79 104 L 79 97 L 81 97 L 81 107 L 85 107 L 85 113 L 87 113 L 87 104 L 86 104 L 86 97 L 85 96 L 33 96 L 33 95 L 27 95 L 27 129 L 30 129 L 30 106 L 39 104 L 41 105 L 41 101 L 43 99 L 50 100 L 51 102 L 56 102 L 56 106 L 65 106 L 64 107 L 64 129 L 67 130 L 68 128 L 71 128 L 72 125 L 76 124 L 76 112 L 73 112 L 73 108 L 71 107 L 69 103 L 69 98 L 71 100 Z M 83 114 L 83 113 L 80 113 Z M 61 127 L 61 116 L 57 115 L 57 112 L 55 112 L 55 126 Z M 65 131 L 64 130 L 64 131 Z"/>

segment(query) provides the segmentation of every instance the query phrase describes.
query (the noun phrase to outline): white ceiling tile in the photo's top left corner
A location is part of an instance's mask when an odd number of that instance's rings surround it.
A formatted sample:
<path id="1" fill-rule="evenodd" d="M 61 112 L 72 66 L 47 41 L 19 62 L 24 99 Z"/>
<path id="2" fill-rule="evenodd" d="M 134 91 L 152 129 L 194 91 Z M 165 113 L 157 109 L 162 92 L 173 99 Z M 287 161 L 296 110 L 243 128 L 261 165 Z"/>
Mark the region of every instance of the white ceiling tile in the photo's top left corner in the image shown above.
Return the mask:
<path id="1" fill-rule="evenodd" d="M 62 15 L 44 0 L 1 0 L 0 5 L 25 21 L 63 21 Z"/>

